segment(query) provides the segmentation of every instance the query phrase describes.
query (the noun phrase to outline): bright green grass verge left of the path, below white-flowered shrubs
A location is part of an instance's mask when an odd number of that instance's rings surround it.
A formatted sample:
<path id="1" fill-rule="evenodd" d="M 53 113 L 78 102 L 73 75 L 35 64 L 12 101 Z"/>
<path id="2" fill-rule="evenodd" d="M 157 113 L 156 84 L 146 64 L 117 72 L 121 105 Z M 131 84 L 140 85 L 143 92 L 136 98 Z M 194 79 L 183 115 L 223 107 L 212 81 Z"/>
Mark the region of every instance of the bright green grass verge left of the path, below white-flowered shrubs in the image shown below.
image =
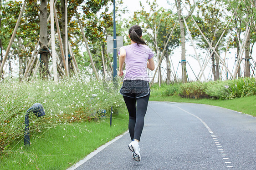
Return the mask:
<path id="1" fill-rule="evenodd" d="M 125 111 L 113 117 L 112 127 L 109 121 L 61 124 L 31 136 L 30 147 L 24 147 L 23 140 L 14 143 L 0 160 L 0 170 L 65 170 L 128 129 Z"/>

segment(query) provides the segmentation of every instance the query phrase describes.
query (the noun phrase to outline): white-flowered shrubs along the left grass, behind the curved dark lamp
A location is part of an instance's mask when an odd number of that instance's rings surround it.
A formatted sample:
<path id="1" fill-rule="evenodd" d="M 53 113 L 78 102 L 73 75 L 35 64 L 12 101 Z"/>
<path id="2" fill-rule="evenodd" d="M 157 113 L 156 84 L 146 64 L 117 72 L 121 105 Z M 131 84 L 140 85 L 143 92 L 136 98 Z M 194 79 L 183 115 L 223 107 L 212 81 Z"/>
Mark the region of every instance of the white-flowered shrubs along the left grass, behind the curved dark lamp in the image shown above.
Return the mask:
<path id="1" fill-rule="evenodd" d="M 45 116 L 29 117 L 31 135 L 42 133 L 44 128 L 53 125 L 77 121 L 87 121 L 110 115 L 124 105 L 118 90 L 106 90 L 102 82 L 80 75 L 53 81 L 38 80 L 19 83 L 5 80 L 0 85 L 0 150 L 5 150 L 10 143 L 22 139 L 26 110 L 34 103 L 41 103 Z M 111 87 L 110 82 L 108 87 Z M 118 87 L 119 88 L 119 87 Z"/>

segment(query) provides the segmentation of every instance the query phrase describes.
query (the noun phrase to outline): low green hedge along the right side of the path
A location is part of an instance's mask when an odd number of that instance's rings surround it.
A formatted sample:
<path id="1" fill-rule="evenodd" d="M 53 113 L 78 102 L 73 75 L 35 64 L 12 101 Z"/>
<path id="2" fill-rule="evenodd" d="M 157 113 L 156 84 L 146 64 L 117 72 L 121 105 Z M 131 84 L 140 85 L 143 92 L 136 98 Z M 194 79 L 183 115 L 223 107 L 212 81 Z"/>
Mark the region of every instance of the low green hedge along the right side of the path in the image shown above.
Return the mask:
<path id="1" fill-rule="evenodd" d="M 240 78 L 226 81 L 191 82 L 185 84 L 153 86 L 153 96 L 180 95 L 185 98 L 211 98 L 228 100 L 256 95 L 255 78 Z"/>

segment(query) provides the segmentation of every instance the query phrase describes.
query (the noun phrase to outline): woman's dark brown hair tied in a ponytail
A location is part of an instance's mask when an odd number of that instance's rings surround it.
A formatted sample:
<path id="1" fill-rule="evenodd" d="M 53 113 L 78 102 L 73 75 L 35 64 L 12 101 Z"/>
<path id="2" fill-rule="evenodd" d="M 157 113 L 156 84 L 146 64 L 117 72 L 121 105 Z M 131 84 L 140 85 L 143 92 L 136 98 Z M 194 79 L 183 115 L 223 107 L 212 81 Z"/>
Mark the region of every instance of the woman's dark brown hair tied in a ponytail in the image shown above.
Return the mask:
<path id="1" fill-rule="evenodd" d="M 145 40 L 141 38 L 142 30 L 141 30 L 140 26 L 138 26 L 138 25 L 131 26 L 131 28 L 129 29 L 129 35 L 130 35 L 131 40 L 133 42 L 137 43 L 138 45 L 139 44 L 147 45 Z"/>

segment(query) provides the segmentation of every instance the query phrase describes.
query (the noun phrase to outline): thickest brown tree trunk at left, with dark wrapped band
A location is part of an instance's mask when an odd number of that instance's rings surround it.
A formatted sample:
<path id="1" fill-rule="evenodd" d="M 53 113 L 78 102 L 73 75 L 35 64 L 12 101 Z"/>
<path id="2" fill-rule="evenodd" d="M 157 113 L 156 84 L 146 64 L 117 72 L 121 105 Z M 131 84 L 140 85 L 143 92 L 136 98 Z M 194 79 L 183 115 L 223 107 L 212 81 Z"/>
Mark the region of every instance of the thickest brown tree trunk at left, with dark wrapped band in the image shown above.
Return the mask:
<path id="1" fill-rule="evenodd" d="M 47 40 L 47 0 L 41 0 L 40 7 L 40 74 L 41 78 L 47 79 L 49 76 L 48 68 L 48 40 Z"/>

